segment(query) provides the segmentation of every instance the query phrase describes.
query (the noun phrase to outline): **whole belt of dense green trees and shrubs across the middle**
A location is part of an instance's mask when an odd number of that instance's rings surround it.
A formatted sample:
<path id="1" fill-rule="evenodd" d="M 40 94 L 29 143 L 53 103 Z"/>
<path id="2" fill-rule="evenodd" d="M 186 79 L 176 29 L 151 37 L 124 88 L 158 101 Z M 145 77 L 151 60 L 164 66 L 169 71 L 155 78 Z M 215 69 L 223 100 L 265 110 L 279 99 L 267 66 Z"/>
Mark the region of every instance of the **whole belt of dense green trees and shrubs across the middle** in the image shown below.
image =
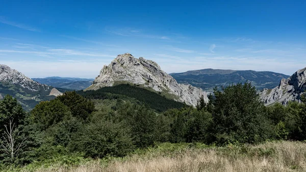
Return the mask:
<path id="1" fill-rule="evenodd" d="M 146 91 L 120 85 L 80 92 L 85 97 L 79 92 L 66 92 L 41 102 L 29 113 L 16 99 L 5 96 L 0 101 L 0 162 L 23 165 L 64 159 L 73 163 L 84 158 L 123 157 L 161 142 L 226 145 L 306 140 L 305 97 L 301 103 L 265 107 L 256 88 L 245 83 L 215 89 L 215 97 L 210 95 L 209 102 L 202 97 L 196 108 L 184 104 L 174 108 L 169 100 Z M 168 104 L 146 105 L 153 99 L 150 95 Z M 12 119 L 16 123 L 12 131 L 15 148 L 22 148 L 11 155 L 5 151 L 9 146 L 4 125 Z"/>

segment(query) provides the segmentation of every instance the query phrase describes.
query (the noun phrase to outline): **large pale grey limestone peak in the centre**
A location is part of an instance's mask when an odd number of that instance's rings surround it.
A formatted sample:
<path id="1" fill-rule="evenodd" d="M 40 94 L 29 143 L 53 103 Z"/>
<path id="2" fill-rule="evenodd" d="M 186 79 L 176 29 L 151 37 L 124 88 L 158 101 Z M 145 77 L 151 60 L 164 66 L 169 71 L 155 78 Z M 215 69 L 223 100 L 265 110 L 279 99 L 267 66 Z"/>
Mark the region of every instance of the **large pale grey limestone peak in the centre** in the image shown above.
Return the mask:
<path id="1" fill-rule="evenodd" d="M 100 75 L 86 90 L 96 90 L 100 87 L 121 83 L 132 83 L 158 92 L 167 92 L 175 100 L 192 106 L 197 104 L 200 96 L 208 101 L 207 93 L 202 89 L 178 84 L 156 62 L 146 60 L 143 57 L 137 59 L 128 53 L 118 55 L 111 64 L 105 65 L 101 69 Z"/>

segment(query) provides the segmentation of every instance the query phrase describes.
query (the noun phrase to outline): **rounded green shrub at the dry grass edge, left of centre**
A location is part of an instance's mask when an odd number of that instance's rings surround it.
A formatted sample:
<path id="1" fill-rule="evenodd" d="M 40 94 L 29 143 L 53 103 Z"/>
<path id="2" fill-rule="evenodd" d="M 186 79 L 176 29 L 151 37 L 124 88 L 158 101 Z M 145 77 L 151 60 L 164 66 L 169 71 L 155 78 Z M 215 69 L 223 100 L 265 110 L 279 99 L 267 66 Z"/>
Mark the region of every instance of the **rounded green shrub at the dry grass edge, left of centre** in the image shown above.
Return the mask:
<path id="1" fill-rule="evenodd" d="M 68 149 L 84 153 L 85 157 L 122 157 L 134 149 L 132 137 L 121 124 L 96 120 L 72 136 Z"/>

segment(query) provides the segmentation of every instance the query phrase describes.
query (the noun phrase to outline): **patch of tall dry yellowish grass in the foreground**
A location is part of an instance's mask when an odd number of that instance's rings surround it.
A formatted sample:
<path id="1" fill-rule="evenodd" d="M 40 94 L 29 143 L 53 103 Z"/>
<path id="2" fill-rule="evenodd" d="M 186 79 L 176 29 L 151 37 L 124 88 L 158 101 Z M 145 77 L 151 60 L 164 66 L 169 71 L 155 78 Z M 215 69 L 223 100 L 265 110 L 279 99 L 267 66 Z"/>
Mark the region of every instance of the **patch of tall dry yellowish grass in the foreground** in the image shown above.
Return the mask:
<path id="1" fill-rule="evenodd" d="M 79 166 L 50 166 L 36 171 L 306 171 L 306 143 L 282 141 L 190 148 L 173 154 L 132 155 L 111 160 L 107 165 L 95 160 Z"/>

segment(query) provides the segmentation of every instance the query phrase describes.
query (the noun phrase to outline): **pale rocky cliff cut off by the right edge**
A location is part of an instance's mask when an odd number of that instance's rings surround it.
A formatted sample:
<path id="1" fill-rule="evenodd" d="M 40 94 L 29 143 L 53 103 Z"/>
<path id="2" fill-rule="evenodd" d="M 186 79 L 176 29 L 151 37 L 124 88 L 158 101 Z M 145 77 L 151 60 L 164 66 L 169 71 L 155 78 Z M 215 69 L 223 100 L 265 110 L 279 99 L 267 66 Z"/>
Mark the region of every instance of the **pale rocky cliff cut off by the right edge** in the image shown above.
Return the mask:
<path id="1" fill-rule="evenodd" d="M 301 93 L 306 90 L 306 67 L 296 71 L 290 78 L 282 79 L 273 89 L 264 89 L 261 99 L 266 105 L 279 102 L 299 101 Z"/>

